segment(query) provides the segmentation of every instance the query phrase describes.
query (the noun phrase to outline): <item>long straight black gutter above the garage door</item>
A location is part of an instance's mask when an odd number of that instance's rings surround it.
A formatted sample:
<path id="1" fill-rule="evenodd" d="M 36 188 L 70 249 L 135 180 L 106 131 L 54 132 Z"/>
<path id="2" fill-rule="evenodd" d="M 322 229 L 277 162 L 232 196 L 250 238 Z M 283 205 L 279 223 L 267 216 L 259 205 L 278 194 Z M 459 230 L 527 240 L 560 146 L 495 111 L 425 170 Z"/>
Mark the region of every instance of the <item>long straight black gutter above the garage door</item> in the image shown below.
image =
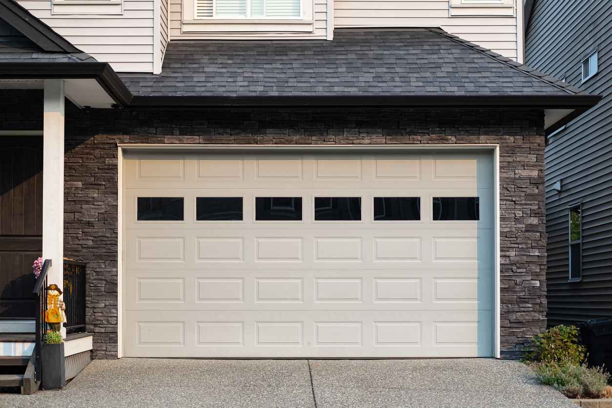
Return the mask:
<path id="1" fill-rule="evenodd" d="M 600 95 L 294 95 L 294 96 L 143 96 L 135 95 L 130 108 L 203 108 L 256 106 L 377 106 L 444 108 L 589 109 Z"/>

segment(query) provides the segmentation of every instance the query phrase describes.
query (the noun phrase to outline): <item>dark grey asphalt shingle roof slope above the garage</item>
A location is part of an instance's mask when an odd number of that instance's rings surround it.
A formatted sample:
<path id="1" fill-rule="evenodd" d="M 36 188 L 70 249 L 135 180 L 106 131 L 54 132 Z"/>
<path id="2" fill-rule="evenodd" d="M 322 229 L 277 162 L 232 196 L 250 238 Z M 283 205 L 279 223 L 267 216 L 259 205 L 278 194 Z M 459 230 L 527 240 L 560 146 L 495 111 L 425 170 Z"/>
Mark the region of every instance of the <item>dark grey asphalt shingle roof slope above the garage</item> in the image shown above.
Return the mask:
<path id="1" fill-rule="evenodd" d="M 338 29 L 332 41 L 172 41 L 161 74 L 119 75 L 141 96 L 581 93 L 441 29 L 427 28 Z"/>

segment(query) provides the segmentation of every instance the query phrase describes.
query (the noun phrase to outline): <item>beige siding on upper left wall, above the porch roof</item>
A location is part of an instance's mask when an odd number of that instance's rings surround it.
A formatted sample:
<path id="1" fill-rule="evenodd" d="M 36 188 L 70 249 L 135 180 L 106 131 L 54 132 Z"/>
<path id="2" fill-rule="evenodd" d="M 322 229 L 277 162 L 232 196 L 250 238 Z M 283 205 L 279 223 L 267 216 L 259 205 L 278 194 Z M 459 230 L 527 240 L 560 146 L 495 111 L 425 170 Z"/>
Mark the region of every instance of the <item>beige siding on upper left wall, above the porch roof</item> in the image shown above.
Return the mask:
<path id="1" fill-rule="evenodd" d="M 166 0 L 167 1 L 167 0 Z M 117 72 L 152 72 L 152 0 L 124 0 L 122 14 L 53 14 L 50 0 L 18 3 L 58 34 Z M 163 35 L 162 35 L 163 38 Z"/>

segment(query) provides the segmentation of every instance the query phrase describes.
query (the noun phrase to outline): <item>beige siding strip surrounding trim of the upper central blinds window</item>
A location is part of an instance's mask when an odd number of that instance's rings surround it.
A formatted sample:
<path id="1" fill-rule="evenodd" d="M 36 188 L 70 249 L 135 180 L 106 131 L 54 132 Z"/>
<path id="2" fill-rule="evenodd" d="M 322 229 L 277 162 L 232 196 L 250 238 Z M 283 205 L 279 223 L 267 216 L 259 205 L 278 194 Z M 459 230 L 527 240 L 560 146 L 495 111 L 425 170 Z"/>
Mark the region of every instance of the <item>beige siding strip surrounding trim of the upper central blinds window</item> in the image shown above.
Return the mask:
<path id="1" fill-rule="evenodd" d="M 327 38 L 327 0 L 314 1 L 313 32 L 181 32 L 181 4 L 184 0 L 170 1 L 170 40 L 259 40 L 259 39 L 304 39 L 322 40 Z"/>

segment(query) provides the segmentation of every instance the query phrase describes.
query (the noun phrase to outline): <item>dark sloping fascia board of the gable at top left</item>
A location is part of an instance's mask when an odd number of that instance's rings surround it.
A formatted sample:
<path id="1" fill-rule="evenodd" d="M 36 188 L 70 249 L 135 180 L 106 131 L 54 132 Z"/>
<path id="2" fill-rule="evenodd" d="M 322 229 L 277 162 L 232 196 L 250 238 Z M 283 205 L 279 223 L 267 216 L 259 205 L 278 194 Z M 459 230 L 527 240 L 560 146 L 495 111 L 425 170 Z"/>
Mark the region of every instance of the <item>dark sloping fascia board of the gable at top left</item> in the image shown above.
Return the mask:
<path id="1" fill-rule="evenodd" d="M 83 52 L 12 0 L 0 0 L 0 16 L 44 51 L 51 53 Z"/>

